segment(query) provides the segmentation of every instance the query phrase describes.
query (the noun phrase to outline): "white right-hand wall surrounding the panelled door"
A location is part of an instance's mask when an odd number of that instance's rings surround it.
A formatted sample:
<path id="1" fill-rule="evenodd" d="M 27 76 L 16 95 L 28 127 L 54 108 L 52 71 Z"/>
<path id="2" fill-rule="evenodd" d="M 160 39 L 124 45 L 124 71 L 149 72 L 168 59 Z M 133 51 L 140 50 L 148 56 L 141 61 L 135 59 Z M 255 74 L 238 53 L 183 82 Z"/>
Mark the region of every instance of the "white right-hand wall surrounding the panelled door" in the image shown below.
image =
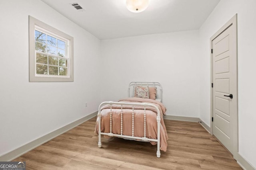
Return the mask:
<path id="1" fill-rule="evenodd" d="M 221 0 L 200 28 L 200 118 L 210 125 L 210 37 L 238 14 L 239 153 L 256 167 L 256 1 Z"/>

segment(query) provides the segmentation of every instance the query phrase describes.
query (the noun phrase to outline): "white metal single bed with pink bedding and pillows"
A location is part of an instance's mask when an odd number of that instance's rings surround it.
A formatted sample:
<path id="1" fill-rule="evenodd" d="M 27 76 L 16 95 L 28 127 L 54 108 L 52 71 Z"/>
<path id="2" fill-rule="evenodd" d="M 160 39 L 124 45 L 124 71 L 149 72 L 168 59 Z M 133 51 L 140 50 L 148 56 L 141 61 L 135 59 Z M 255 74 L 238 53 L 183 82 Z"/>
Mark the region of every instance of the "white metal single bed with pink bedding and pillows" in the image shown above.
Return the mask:
<path id="1" fill-rule="evenodd" d="M 166 152 L 167 149 L 168 135 L 163 120 L 165 114 L 161 84 L 131 82 L 128 98 L 100 104 L 95 129 L 98 147 L 102 147 L 101 135 L 150 142 L 157 145 L 156 156 L 160 158 L 160 150 Z"/>

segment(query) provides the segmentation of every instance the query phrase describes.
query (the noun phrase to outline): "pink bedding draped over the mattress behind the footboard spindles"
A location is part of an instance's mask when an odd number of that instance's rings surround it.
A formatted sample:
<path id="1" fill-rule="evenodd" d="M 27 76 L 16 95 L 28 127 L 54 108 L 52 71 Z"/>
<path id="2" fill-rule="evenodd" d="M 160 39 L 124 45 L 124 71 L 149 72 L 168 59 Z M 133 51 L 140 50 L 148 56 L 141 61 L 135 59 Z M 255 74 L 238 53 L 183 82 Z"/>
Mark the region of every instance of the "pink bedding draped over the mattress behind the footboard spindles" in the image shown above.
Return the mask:
<path id="1" fill-rule="evenodd" d="M 126 98 L 118 102 L 140 103 L 146 102 L 154 104 L 160 110 L 160 150 L 166 152 L 168 135 L 164 125 L 163 115 L 166 114 L 166 107 L 161 102 L 152 99 L 142 98 Z M 132 106 L 123 105 L 123 135 L 132 136 Z M 110 105 L 105 105 L 101 108 L 101 131 L 104 133 L 110 132 Z M 154 107 L 146 107 L 146 137 L 151 139 L 157 138 L 157 112 Z M 98 134 L 98 119 L 96 121 L 95 133 Z M 121 106 L 112 105 L 112 133 L 121 134 Z M 144 107 L 134 106 L 134 136 L 144 137 Z M 108 137 L 108 136 L 106 136 Z M 150 142 L 156 145 L 156 142 Z"/>

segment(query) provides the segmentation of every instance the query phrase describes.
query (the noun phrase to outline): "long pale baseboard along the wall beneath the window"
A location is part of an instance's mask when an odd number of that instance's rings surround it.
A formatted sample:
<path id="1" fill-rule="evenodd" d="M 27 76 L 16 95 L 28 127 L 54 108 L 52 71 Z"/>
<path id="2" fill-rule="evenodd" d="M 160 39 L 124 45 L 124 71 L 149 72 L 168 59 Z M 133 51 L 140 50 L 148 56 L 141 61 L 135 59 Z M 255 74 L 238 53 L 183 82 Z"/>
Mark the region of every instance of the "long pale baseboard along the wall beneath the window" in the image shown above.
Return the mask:
<path id="1" fill-rule="evenodd" d="M 90 115 L 82 117 L 81 119 L 78 119 L 64 127 L 61 127 L 60 129 L 57 129 L 51 133 L 48 133 L 47 135 L 44 135 L 30 143 L 27 143 L 26 145 L 23 145 L 22 147 L 19 147 L 18 149 L 14 149 L 11 152 L 8 152 L 7 154 L 0 156 L 0 161 L 14 160 L 15 158 L 18 158 L 19 156 L 21 156 L 22 154 L 25 154 L 26 152 L 50 141 L 51 139 L 54 139 L 55 137 L 61 135 L 62 133 L 65 133 L 66 131 L 69 131 L 70 129 L 80 125 L 81 123 L 84 123 L 85 121 L 96 116 L 97 113 L 98 113 L 98 111 L 91 113 Z"/>

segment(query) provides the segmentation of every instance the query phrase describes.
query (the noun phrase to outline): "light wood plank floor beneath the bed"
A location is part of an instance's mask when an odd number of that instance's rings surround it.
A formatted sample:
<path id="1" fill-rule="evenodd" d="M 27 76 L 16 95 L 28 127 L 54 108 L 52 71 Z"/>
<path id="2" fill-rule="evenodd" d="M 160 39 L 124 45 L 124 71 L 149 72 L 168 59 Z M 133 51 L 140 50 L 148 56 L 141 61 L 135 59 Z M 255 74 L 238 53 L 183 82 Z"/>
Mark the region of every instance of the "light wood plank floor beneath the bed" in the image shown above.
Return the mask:
<path id="1" fill-rule="evenodd" d="M 168 149 L 156 157 L 156 145 L 94 134 L 96 117 L 13 161 L 26 169 L 241 170 L 232 155 L 199 123 L 165 120 Z"/>

